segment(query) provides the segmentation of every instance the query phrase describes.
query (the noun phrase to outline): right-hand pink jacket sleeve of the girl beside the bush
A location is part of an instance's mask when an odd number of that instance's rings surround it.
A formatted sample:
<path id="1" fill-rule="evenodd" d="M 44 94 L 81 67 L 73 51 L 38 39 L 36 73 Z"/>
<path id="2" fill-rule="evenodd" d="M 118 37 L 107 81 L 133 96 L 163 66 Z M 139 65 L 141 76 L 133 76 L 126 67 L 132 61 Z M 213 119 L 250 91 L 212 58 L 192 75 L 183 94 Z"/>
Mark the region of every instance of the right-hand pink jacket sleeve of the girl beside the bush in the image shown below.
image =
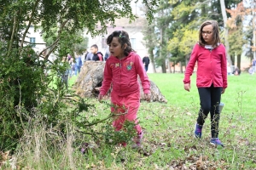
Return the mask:
<path id="1" fill-rule="evenodd" d="M 150 94 L 150 82 L 148 80 L 148 75 L 147 75 L 144 65 L 143 65 L 143 60 L 140 58 L 139 55 L 136 55 L 135 59 L 136 59 L 135 67 L 137 70 L 137 74 L 139 75 L 139 77 L 141 79 L 144 94 Z"/>

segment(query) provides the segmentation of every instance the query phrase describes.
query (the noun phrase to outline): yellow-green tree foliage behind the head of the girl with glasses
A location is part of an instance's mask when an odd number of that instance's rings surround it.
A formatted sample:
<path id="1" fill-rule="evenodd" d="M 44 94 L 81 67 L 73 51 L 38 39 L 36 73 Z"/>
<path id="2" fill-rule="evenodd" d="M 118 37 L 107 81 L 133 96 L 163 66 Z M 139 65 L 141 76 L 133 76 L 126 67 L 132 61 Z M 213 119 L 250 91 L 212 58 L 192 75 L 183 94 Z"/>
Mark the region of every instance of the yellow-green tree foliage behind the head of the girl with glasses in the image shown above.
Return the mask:
<path id="1" fill-rule="evenodd" d="M 231 9 L 236 10 L 238 3 L 241 3 L 241 0 L 224 0 L 227 11 Z M 221 32 L 221 41 L 224 43 L 224 34 L 222 34 L 224 31 L 224 19 L 222 17 L 221 4 L 219 0 L 160 0 L 160 5 L 155 8 L 155 11 L 156 14 L 152 24 L 154 29 L 151 30 L 152 33 L 154 32 L 154 34 L 156 34 L 155 37 L 157 37 L 158 42 L 160 42 L 159 46 L 156 45 L 156 47 L 162 48 L 161 52 L 154 56 L 156 65 L 166 59 L 175 63 L 186 63 L 189 59 L 189 53 L 192 51 L 194 46 L 193 43 L 195 44 L 195 42 L 198 41 L 198 31 L 201 23 L 205 20 L 218 21 L 218 26 Z M 227 12 L 227 17 L 230 20 L 232 18 L 232 14 Z M 235 17 L 233 20 L 236 19 L 238 18 Z M 241 26 L 241 28 L 244 28 L 242 21 Z M 160 32 L 160 30 L 162 32 Z M 147 32 L 145 33 L 145 39 L 150 35 L 148 31 L 145 31 Z M 230 31 L 230 35 L 233 33 L 233 31 Z M 242 37 L 245 33 L 245 31 L 241 31 L 239 35 Z M 252 37 L 252 34 L 249 35 L 249 37 Z M 237 38 L 238 37 L 236 37 L 235 40 L 232 40 L 237 42 Z M 243 41 L 240 42 L 245 44 Z M 236 46 L 232 45 L 232 47 Z M 234 49 L 231 48 L 230 53 L 233 53 L 233 51 Z M 172 56 L 171 58 L 169 57 L 170 55 Z"/>

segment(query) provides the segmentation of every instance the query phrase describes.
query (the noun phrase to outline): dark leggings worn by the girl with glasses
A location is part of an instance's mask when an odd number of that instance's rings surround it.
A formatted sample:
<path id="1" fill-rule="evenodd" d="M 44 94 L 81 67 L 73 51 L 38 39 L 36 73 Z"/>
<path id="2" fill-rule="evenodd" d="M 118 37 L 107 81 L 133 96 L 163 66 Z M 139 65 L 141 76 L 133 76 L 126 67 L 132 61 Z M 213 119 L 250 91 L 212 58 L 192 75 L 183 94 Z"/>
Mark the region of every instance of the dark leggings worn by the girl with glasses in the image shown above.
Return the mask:
<path id="1" fill-rule="evenodd" d="M 197 123 L 203 125 L 211 113 L 211 133 L 212 138 L 218 138 L 218 122 L 219 122 L 219 109 L 222 88 L 214 88 L 213 84 L 210 88 L 198 88 L 200 96 L 200 111 L 197 118 Z"/>

